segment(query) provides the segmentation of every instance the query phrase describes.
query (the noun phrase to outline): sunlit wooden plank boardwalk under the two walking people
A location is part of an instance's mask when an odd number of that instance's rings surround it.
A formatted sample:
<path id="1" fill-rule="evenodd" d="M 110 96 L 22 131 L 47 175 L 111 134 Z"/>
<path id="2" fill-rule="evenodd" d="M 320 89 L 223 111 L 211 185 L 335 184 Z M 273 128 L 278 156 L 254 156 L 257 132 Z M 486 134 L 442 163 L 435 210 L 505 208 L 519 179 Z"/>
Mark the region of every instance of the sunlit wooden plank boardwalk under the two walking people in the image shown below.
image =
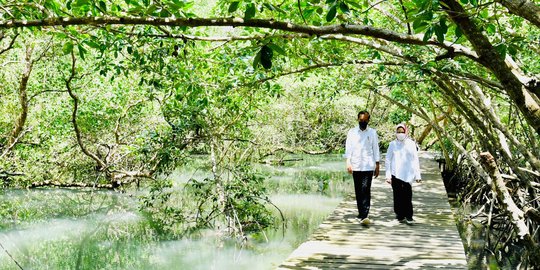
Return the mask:
<path id="1" fill-rule="evenodd" d="M 394 219 L 392 188 L 381 170 L 371 187 L 371 225 L 355 219 L 353 194 L 278 269 L 467 269 L 437 163 L 422 154 L 420 165 L 423 183 L 413 185 L 414 225 Z"/>

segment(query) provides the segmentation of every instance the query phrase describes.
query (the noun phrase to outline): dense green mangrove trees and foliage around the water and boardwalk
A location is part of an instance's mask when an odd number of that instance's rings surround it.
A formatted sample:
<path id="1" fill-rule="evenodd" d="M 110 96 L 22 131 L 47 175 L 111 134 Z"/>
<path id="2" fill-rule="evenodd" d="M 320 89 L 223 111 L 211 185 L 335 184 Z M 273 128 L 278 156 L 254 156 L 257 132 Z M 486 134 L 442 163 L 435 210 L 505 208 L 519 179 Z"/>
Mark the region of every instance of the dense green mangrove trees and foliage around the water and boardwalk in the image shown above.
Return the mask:
<path id="1" fill-rule="evenodd" d="M 244 235 L 273 223 L 251 164 L 340 151 L 367 108 L 383 145 L 406 121 L 442 152 L 498 260 L 540 265 L 539 14 L 526 0 L 0 0 L 0 183 L 144 185 L 163 237 Z M 198 154 L 208 177 L 171 192 Z"/>

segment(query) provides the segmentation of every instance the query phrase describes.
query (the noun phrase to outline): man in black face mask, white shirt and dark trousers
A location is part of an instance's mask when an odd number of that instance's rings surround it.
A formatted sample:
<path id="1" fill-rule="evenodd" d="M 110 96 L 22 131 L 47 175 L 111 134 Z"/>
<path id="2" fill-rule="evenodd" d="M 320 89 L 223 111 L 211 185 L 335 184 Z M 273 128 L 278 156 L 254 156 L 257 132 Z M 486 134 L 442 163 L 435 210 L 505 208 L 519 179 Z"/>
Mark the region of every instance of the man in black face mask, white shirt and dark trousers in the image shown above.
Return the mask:
<path id="1" fill-rule="evenodd" d="M 369 225 L 369 208 L 371 206 L 371 180 L 379 176 L 379 138 L 377 131 L 369 128 L 370 115 L 367 111 L 358 113 L 358 127 L 347 133 L 345 158 L 347 171 L 353 175 L 354 192 L 360 224 Z"/>

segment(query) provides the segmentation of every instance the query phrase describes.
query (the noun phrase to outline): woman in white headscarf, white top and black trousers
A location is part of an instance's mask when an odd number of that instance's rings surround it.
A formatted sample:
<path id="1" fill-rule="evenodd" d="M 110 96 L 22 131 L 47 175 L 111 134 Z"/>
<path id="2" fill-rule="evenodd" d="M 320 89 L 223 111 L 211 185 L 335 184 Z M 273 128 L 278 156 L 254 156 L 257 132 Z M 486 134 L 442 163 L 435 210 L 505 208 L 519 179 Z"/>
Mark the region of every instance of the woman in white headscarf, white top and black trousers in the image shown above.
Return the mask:
<path id="1" fill-rule="evenodd" d="M 386 182 L 392 185 L 394 212 L 400 223 L 413 224 L 412 182 L 421 182 L 416 143 L 404 124 L 396 126 L 396 139 L 386 152 Z"/>

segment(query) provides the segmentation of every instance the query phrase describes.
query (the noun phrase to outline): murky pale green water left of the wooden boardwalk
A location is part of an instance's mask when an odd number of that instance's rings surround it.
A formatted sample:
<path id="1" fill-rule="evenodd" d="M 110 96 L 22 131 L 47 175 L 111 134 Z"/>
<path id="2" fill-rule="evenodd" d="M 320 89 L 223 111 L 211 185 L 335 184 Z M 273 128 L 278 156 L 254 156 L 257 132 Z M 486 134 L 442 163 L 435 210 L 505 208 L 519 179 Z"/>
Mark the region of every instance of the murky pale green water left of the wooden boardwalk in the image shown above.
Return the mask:
<path id="1" fill-rule="evenodd" d="M 137 191 L 2 191 L 0 270 L 19 269 L 15 261 L 24 269 L 272 269 L 352 190 L 340 156 L 301 158 L 285 166 L 257 166 L 268 176 L 271 201 L 285 224 L 242 243 L 217 231 L 163 240 L 138 211 Z M 206 176 L 179 171 L 174 188 Z"/>

